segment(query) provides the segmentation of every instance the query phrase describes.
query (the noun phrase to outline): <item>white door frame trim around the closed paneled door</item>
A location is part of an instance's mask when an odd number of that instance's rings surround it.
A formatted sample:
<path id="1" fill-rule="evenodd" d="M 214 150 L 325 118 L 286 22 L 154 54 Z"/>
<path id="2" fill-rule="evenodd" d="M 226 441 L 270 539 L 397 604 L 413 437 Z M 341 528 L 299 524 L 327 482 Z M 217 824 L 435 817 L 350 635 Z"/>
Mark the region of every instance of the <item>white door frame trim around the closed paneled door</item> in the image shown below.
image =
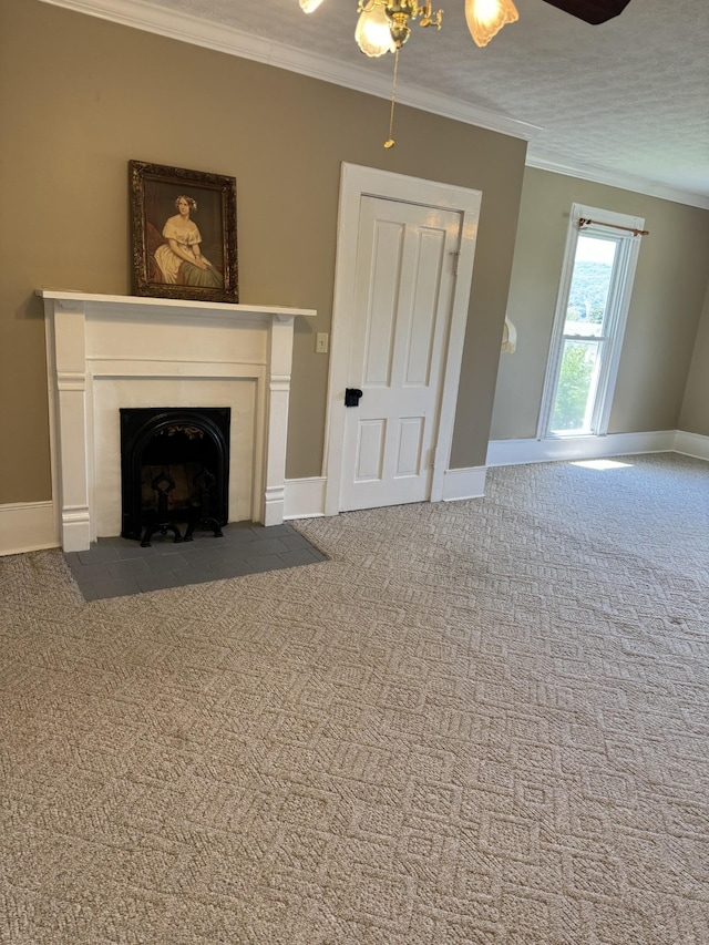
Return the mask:
<path id="1" fill-rule="evenodd" d="M 473 278 L 475 242 L 480 222 L 482 192 L 453 184 L 441 184 L 419 177 L 408 177 L 391 171 L 363 167 L 342 162 L 340 201 L 335 264 L 335 295 L 330 335 L 330 368 L 325 442 L 325 514 L 340 511 L 342 487 L 342 448 L 345 444 L 345 388 L 352 342 L 353 288 L 359 237 L 361 198 L 379 197 L 461 214 L 458 273 L 448 340 L 444 347 L 443 389 L 438 421 L 438 442 L 434 449 L 430 502 L 443 497 L 443 480 L 451 456 L 453 422 L 463 358 L 463 341 L 467 323 L 467 306 Z"/>

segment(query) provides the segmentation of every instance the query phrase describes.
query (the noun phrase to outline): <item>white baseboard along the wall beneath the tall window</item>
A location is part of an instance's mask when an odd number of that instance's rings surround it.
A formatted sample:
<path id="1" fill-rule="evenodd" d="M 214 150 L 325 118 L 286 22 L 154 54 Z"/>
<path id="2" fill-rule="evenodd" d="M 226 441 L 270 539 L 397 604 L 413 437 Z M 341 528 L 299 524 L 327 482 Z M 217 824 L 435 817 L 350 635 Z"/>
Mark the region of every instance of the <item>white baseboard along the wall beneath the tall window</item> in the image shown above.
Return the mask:
<path id="1" fill-rule="evenodd" d="M 676 449 L 676 430 L 649 433 L 608 433 L 606 436 L 568 436 L 558 440 L 491 440 L 487 465 L 546 463 L 556 460 L 595 460 L 633 453 L 665 453 Z"/>

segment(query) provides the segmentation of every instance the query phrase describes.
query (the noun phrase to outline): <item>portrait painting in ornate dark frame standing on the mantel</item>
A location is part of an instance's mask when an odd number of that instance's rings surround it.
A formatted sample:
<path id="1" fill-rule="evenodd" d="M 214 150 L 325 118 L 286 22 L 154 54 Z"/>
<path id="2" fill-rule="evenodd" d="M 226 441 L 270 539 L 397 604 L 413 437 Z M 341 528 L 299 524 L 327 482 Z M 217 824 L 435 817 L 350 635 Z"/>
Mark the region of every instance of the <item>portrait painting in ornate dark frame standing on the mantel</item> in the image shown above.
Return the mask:
<path id="1" fill-rule="evenodd" d="M 238 302 L 236 179 L 129 162 L 138 296 Z"/>

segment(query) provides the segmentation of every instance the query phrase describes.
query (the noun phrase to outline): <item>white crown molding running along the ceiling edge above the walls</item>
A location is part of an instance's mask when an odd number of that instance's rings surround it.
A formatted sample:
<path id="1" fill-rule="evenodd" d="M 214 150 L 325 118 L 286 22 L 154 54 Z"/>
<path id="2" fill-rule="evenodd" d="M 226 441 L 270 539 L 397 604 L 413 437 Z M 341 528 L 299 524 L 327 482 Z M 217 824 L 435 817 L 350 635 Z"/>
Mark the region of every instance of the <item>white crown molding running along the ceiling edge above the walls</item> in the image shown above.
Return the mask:
<path id="1" fill-rule="evenodd" d="M 156 33 L 181 42 L 188 42 L 228 55 L 249 59 L 277 69 L 286 69 L 300 75 L 319 79 L 322 82 L 341 85 L 380 99 L 391 96 L 389 81 L 380 79 L 368 69 L 339 63 L 315 53 L 305 53 L 285 43 L 244 33 L 233 27 L 207 22 L 189 13 L 155 7 L 147 0 L 40 0 L 40 2 L 109 20 L 124 27 L 132 27 L 136 30 Z M 527 142 L 533 141 L 544 131 L 538 125 L 404 83 L 399 85 L 397 100 L 402 105 L 422 109 L 443 117 Z M 709 197 L 703 195 L 687 193 L 629 174 L 605 171 L 590 165 L 566 163 L 541 152 L 538 156 L 527 154 L 526 165 L 541 171 L 551 171 L 554 174 L 579 177 L 596 184 L 607 184 L 624 191 L 634 191 L 660 199 L 709 209 Z"/>

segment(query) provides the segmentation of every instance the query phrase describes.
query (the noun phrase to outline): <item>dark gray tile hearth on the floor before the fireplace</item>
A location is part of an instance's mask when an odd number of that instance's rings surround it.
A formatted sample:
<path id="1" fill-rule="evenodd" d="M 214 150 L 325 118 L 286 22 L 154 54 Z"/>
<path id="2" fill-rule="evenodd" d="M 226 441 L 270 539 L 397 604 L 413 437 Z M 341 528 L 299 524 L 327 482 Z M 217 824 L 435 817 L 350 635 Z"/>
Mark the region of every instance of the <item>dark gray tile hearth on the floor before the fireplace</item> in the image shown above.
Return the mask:
<path id="1" fill-rule="evenodd" d="M 150 548 L 127 538 L 99 538 L 88 552 L 64 555 L 85 600 L 123 597 L 297 567 L 326 561 L 326 556 L 292 525 L 232 524 L 224 536 L 198 533 L 194 542 L 175 543 L 172 535 L 155 535 Z"/>

